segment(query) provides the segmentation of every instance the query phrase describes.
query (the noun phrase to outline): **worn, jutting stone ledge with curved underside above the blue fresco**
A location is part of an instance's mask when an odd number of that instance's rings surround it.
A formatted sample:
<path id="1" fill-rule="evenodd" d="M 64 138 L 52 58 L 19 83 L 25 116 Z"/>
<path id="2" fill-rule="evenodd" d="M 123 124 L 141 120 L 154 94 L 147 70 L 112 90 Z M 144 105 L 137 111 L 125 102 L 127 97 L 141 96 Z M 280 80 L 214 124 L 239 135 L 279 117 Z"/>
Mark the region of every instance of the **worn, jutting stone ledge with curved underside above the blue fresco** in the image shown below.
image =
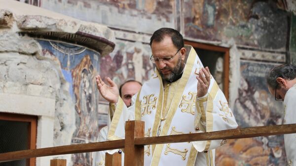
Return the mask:
<path id="1" fill-rule="evenodd" d="M 0 28 L 40 39 L 66 41 L 99 52 L 114 50 L 114 32 L 97 23 L 84 22 L 15 0 L 0 0 Z"/>

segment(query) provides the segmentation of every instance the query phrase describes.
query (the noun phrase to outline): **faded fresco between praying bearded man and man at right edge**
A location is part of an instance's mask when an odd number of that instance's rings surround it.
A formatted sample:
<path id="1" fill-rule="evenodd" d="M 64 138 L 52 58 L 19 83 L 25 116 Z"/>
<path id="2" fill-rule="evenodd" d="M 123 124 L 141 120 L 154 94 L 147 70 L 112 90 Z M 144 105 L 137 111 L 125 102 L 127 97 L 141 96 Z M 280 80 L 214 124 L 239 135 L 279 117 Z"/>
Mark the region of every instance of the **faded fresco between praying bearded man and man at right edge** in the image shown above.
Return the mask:
<path id="1" fill-rule="evenodd" d="M 278 64 L 241 60 L 240 86 L 233 113 L 240 127 L 282 125 L 282 103 L 267 89 L 266 74 Z M 284 136 L 228 140 L 216 150 L 217 166 L 286 166 Z"/>

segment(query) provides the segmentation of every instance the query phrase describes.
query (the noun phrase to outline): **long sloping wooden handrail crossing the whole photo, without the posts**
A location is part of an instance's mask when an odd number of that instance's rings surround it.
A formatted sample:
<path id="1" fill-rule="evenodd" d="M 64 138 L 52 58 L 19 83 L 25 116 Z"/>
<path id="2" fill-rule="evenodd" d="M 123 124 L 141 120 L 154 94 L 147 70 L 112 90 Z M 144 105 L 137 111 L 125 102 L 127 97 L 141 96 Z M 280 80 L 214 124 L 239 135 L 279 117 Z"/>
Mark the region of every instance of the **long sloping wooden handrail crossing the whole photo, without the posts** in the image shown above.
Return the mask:
<path id="1" fill-rule="evenodd" d="M 162 143 L 190 142 L 200 140 L 215 139 L 237 139 L 257 136 L 278 135 L 296 133 L 296 124 L 260 126 L 242 129 L 233 129 L 209 133 L 191 133 L 180 135 L 168 135 L 157 137 L 135 138 L 135 145 L 152 145 Z M 74 153 L 95 152 L 111 149 L 124 148 L 125 140 L 114 140 L 96 143 L 85 143 L 77 145 L 56 146 L 49 148 L 40 148 L 32 150 L 22 150 L 8 153 L 0 153 L 0 163 L 13 160 L 22 160 L 26 158 L 35 158 L 43 156 L 64 155 Z"/>

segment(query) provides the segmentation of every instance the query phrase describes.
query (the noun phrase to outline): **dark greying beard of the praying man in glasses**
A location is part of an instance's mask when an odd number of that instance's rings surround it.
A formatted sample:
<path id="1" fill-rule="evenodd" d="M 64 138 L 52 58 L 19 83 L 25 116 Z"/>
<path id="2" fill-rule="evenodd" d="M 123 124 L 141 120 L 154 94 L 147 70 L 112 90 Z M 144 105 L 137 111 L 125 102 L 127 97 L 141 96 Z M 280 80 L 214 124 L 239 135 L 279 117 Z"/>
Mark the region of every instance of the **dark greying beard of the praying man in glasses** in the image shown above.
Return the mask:
<path id="1" fill-rule="evenodd" d="M 169 67 L 166 67 L 165 69 L 168 69 Z M 166 82 L 175 82 L 177 81 L 179 78 L 181 78 L 182 76 L 182 71 L 183 71 L 183 63 L 182 63 L 182 59 L 181 57 L 179 57 L 178 63 L 177 65 L 171 70 L 172 72 L 168 75 L 163 75 L 161 71 L 159 71 L 159 69 L 157 68 L 162 81 L 166 81 Z M 171 69 L 171 68 L 169 68 Z"/>

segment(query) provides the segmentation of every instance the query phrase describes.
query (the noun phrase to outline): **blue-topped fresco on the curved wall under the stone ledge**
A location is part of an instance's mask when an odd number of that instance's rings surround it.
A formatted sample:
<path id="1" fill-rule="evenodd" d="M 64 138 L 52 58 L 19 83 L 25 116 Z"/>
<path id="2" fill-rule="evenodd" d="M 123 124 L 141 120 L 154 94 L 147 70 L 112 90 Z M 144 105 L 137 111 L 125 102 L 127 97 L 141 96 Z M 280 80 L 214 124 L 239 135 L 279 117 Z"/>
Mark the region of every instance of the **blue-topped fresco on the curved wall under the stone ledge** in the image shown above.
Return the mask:
<path id="1" fill-rule="evenodd" d="M 69 93 L 75 104 L 76 130 L 72 136 L 72 144 L 96 142 L 99 133 L 99 120 L 106 123 L 107 110 L 101 110 L 98 103 L 99 92 L 95 83 L 95 75 L 99 70 L 100 55 L 84 47 L 38 40 L 42 46 L 43 56 L 58 61 L 63 75 L 69 82 Z M 106 124 L 104 124 L 106 125 Z M 72 155 L 74 166 L 91 166 L 91 153 Z"/>

